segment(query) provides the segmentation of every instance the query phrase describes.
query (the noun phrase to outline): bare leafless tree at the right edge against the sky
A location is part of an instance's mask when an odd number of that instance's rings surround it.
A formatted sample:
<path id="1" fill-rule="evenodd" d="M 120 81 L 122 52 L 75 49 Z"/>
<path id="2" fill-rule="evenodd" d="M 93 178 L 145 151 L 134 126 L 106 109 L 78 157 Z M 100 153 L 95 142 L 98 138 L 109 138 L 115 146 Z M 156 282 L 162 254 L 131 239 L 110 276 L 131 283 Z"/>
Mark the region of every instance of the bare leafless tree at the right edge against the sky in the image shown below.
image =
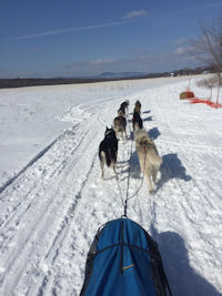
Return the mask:
<path id="1" fill-rule="evenodd" d="M 218 74 L 218 102 L 222 84 L 222 18 L 211 25 L 200 23 L 200 35 L 191 45 L 191 54 L 211 67 Z"/>

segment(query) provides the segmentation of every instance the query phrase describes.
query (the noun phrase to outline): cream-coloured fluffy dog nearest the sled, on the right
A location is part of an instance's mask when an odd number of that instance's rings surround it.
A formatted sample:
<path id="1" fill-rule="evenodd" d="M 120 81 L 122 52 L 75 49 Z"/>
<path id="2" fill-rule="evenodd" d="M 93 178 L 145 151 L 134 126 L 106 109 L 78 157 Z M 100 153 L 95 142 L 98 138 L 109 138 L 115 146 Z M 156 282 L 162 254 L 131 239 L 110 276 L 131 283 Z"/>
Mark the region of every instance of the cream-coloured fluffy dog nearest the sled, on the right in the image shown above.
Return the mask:
<path id="1" fill-rule="evenodd" d="M 159 156 L 158 150 L 145 130 L 135 131 L 134 140 L 141 172 L 148 182 L 150 193 L 153 193 L 153 184 L 155 184 L 162 157 Z"/>

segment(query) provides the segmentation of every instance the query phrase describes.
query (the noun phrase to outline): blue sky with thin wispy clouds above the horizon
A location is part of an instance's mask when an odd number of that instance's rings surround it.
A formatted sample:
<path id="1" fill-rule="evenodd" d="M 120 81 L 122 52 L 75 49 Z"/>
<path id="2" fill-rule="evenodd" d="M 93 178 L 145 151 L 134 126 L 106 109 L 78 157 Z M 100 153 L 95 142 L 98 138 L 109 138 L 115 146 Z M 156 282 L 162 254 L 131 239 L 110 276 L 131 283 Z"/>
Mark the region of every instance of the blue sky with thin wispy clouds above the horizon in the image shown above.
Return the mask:
<path id="1" fill-rule="evenodd" d="M 200 21 L 222 0 L 0 0 L 0 78 L 163 72 L 194 67 Z"/>

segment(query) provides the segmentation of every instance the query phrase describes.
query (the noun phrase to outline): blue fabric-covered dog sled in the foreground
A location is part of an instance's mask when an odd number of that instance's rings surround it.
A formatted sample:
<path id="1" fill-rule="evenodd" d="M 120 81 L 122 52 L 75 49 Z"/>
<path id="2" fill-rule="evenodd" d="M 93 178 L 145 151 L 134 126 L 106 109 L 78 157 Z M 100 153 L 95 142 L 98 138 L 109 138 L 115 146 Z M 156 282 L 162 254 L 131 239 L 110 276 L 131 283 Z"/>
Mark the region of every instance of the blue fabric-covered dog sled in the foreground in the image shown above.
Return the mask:
<path id="1" fill-rule="evenodd" d="M 158 244 L 129 218 L 108 222 L 89 249 L 80 295 L 172 295 Z"/>

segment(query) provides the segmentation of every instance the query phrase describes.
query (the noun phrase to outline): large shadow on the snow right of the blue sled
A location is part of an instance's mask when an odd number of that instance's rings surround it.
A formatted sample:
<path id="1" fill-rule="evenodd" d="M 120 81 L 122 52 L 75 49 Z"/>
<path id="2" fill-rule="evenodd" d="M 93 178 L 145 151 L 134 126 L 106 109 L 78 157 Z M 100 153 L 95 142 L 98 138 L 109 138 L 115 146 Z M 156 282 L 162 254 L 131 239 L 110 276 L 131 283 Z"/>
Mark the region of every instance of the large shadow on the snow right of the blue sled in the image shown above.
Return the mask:
<path id="1" fill-rule="evenodd" d="M 151 236 L 158 242 L 164 271 L 173 295 L 219 296 L 212 284 L 190 266 L 184 239 L 176 233 L 158 233 L 151 225 Z"/>

